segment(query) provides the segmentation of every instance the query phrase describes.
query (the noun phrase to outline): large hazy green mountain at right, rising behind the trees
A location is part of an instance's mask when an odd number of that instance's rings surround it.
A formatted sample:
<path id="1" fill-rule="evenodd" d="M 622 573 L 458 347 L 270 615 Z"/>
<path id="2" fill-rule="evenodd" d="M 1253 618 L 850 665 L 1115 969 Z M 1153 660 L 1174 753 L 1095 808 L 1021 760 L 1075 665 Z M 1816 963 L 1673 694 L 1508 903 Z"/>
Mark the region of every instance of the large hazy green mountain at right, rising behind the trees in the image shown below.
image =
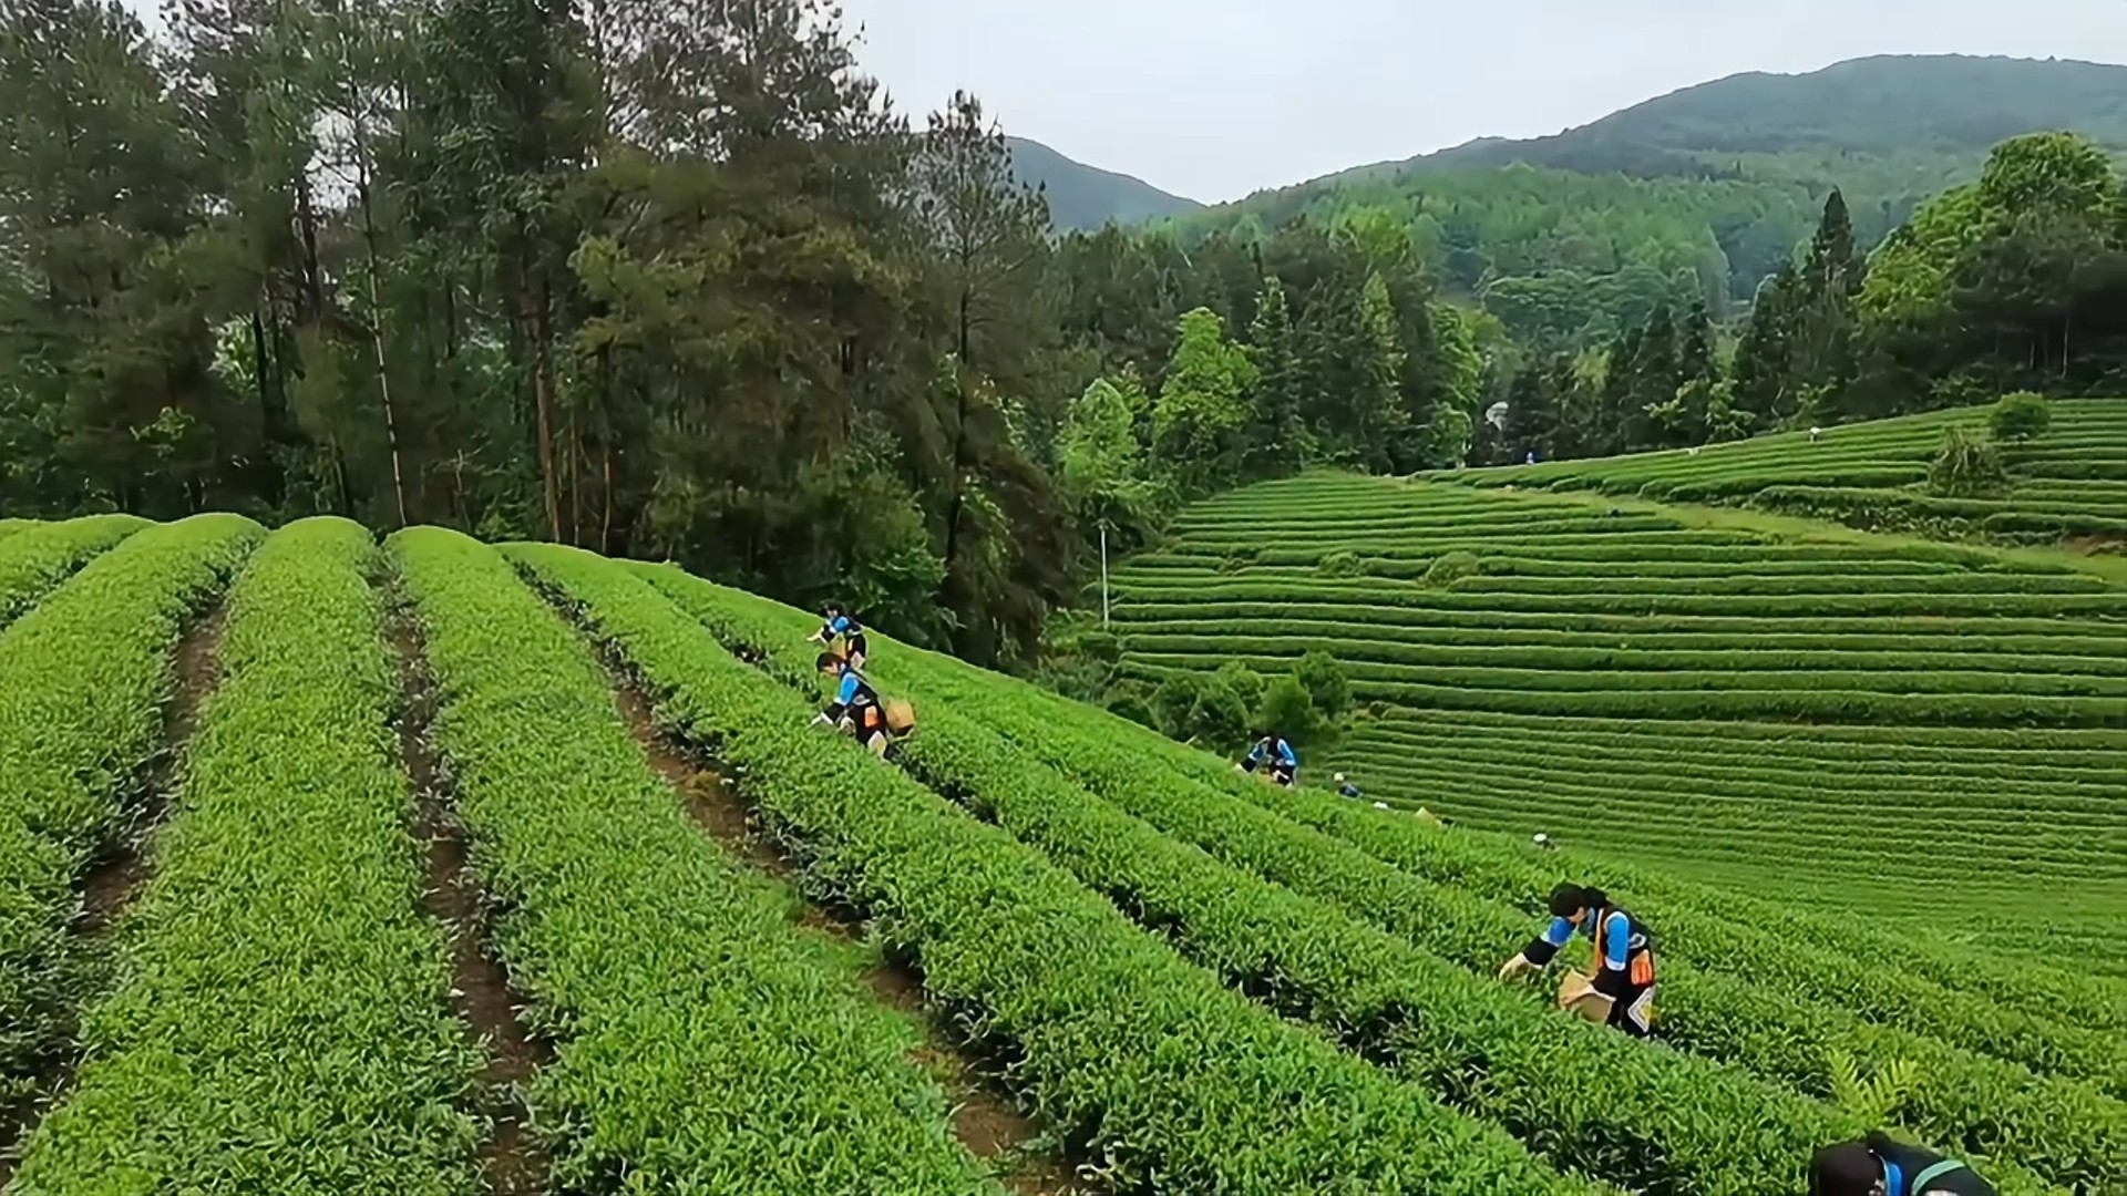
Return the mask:
<path id="1" fill-rule="evenodd" d="M 1295 217 L 1387 215 L 1442 289 L 1517 336 L 1572 345 L 1655 304 L 1731 313 L 1810 236 L 1833 187 L 1872 247 L 1976 179 L 1997 143 L 2044 130 L 2127 155 L 2127 66 L 1906 55 L 1734 74 L 1555 136 L 1359 166 L 1178 223 L 1251 238 Z"/>

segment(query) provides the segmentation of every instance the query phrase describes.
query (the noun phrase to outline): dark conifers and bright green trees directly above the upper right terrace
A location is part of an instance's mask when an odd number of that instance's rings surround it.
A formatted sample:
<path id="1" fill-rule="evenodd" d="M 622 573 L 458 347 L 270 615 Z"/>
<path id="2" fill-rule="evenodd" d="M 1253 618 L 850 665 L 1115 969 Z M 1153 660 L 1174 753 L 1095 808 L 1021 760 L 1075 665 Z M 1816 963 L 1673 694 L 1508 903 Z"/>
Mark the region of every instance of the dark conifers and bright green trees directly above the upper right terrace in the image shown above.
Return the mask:
<path id="1" fill-rule="evenodd" d="M 1736 328 L 1657 306 L 1523 362 L 1472 464 L 1689 447 L 1991 402 L 2127 396 L 2127 179 L 2074 134 L 2002 143 L 1874 253 L 1840 192 Z"/>

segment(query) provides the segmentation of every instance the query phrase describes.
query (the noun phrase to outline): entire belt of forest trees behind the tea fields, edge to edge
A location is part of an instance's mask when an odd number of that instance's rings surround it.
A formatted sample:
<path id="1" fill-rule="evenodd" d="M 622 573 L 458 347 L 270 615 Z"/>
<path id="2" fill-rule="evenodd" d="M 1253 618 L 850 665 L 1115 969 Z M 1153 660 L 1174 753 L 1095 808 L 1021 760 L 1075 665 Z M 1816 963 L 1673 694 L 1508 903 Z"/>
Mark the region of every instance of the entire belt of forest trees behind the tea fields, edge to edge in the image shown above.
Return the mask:
<path id="1" fill-rule="evenodd" d="M 1257 477 L 2127 389 L 2123 262 L 2110 162 L 2040 136 L 1870 266 L 1833 198 L 1740 326 L 1678 260 L 1623 334 L 1517 338 L 1374 206 L 1057 238 L 827 0 L 17 0 L 0 515 L 555 538 L 1008 664 L 1104 538 Z"/>

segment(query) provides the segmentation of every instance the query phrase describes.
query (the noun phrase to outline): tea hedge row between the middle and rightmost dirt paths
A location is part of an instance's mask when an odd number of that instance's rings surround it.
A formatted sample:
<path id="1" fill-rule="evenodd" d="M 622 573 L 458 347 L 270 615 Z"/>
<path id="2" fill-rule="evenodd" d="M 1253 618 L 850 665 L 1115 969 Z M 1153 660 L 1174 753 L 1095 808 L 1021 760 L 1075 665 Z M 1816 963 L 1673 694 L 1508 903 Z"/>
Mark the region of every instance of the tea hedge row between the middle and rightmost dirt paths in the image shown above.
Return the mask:
<path id="1" fill-rule="evenodd" d="M 530 1092 L 553 1185 L 993 1192 L 908 1026 L 687 819 L 589 645 L 489 547 L 438 528 L 391 547 L 502 956 L 557 1041 Z"/>

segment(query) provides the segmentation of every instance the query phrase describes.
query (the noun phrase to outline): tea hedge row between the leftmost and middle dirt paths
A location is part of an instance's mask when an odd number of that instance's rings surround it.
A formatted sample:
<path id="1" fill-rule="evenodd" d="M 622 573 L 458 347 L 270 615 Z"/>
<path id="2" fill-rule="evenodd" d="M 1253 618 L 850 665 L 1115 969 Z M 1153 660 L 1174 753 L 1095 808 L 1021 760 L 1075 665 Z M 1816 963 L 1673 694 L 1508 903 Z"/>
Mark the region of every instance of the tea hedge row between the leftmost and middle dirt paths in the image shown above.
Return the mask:
<path id="1" fill-rule="evenodd" d="M 455 1107 L 479 1051 L 415 900 L 376 566 L 366 530 L 317 519 L 230 589 L 123 981 L 83 1017 L 89 1062 L 15 1192 L 479 1190 Z"/>

